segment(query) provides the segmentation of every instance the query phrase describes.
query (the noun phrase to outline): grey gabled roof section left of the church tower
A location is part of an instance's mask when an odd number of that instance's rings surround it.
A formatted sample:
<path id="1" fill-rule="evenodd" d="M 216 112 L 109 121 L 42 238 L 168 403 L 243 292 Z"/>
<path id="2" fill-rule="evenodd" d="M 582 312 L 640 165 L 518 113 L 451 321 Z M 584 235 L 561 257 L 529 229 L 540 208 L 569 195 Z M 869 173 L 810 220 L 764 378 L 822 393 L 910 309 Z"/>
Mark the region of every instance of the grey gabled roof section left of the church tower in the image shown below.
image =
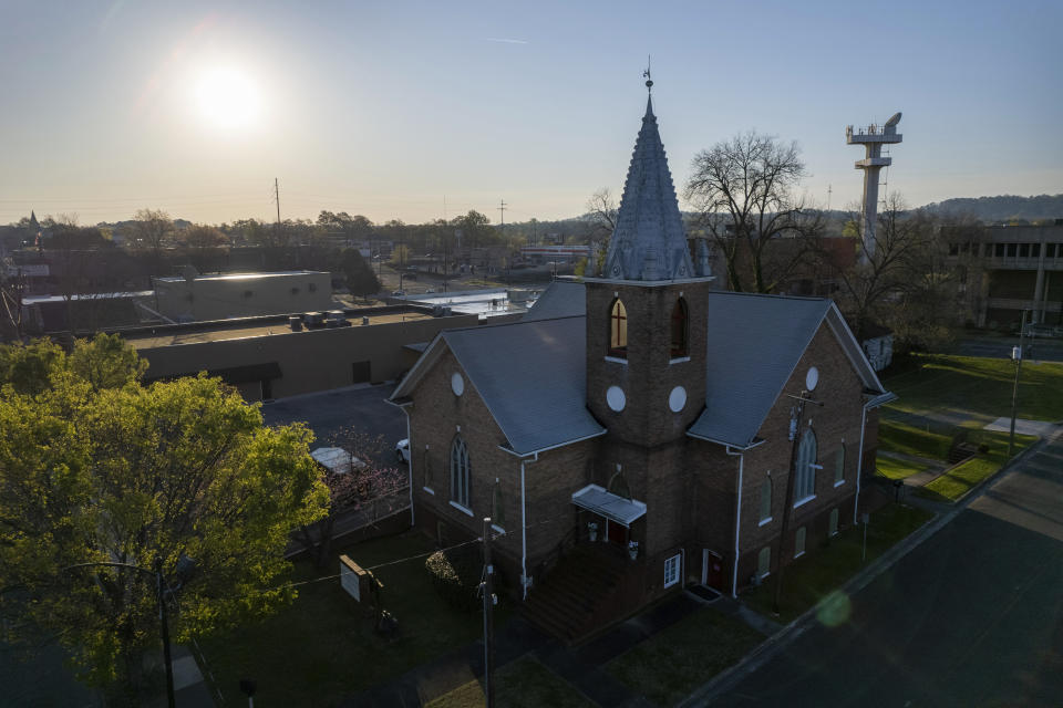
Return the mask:
<path id="1" fill-rule="evenodd" d="M 587 410 L 584 317 L 441 332 L 392 400 L 410 395 L 444 348 L 483 398 L 509 448 L 527 455 L 602 435 Z"/>

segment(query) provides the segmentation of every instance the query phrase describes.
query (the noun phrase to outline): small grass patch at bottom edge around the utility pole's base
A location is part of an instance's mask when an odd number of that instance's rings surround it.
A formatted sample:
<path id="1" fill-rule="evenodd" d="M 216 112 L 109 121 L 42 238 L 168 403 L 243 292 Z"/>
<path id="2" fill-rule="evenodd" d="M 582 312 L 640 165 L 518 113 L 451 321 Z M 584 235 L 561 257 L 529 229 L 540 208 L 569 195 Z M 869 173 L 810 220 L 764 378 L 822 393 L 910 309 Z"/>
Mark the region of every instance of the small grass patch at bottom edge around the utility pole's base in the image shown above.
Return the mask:
<path id="1" fill-rule="evenodd" d="M 482 708 L 484 686 L 469 681 L 425 704 L 424 708 Z M 535 659 L 525 657 L 495 674 L 495 705 L 498 708 L 594 708 L 571 685 Z"/>

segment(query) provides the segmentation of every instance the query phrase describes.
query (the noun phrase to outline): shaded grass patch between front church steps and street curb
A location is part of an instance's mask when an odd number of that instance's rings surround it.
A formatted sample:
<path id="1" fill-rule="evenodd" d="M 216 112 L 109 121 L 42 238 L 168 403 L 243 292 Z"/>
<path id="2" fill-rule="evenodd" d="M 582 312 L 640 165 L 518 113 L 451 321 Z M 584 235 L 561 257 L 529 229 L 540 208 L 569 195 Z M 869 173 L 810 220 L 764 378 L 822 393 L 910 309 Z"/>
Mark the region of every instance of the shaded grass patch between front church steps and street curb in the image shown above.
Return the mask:
<path id="1" fill-rule="evenodd" d="M 672 706 L 763 639 L 745 623 L 703 607 L 612 659 L 606 670 L 657 705 Z"/>

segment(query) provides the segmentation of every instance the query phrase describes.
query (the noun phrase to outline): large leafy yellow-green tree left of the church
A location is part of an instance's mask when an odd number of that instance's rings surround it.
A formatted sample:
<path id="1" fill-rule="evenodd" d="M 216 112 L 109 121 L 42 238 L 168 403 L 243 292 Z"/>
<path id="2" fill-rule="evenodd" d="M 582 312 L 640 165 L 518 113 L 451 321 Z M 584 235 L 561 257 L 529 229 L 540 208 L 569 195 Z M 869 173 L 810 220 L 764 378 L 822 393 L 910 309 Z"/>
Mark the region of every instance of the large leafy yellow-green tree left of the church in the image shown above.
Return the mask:
<path id="1" fill-rule="evenodd" d="M 194 559 L 171 613 L 176 642 L 276 610 L 295 594 L 289 533 L 328 503 L 312 435 L 264 427 L 257 406 L 203 374 L 141 386 L 135 353 L 110 337 L 69 357 L 10 348 L 0 361 L 35 362 L 0 385 L 0 612 L 18 618 L 13 638 L 54 634 L 87 681 L 140 704 L 142 657 L 159 644 L 152 579 L 72 566 L 159 556 L 173 576 Z M 35 394 L 11 383 L 27 369 Z"/>

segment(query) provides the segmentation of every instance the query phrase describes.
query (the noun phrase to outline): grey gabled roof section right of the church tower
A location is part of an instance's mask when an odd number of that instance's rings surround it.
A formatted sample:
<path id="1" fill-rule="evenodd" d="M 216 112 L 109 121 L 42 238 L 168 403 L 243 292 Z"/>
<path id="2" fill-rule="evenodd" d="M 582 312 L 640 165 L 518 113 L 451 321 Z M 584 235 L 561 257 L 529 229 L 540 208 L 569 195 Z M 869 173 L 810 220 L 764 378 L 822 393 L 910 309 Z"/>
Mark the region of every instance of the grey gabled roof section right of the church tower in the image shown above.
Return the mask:
<path id="1" fill-rule="evenodd" d="M 714 291 L 710 295 L 705 409 L 688 434 L 749 447 L 825 321 L 866 389 L 883 386 L 829 300 Z"/>

